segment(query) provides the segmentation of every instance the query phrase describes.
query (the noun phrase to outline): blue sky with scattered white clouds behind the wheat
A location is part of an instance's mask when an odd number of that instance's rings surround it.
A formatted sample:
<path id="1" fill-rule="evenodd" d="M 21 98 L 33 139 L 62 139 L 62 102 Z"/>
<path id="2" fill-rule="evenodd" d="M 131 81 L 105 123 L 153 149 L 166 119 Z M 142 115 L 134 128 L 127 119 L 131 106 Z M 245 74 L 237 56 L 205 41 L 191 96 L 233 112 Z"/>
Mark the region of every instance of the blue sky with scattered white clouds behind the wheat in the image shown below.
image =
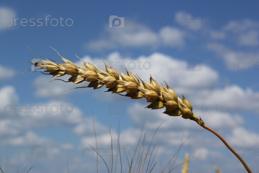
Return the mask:
<path id="1" fill-rule="evenodd" d="M 159 84 L 165 85 L 165 80 L 180 98 L 183 94 L 191 102 L 193 112 L 206 125 L 233 146 L 252 172 L 258 172 L 258 5 L 258 1 L 1 1 L 1 168 L 14 172 L 26 165 L 21 170 L 26 172 L 35 165 L 32 172 L 67 172 L 67 153 L 70 172 L 96 172 L 96 154 L 82 158 L 82 151 L 87 155 L 85 148 L 91 151 L 89 144 L 96 147 L 94 110 L 98 148 L 105 150 L 108 163 L 109 127 L 116 146 L 119 117 L 120 145 L 127 147 L 126 152 L 136 147 L 144 122 L 144 132 L 149 127 L 148 147 L 155 129 L 167 120 L 152 143 L 159 146 L 154 172 L 161 172 L 176 153 L 183 134 L 184 139 L 191 136 L 182 146 L 176 166 L 189 152 L 190 172 L 215 172 L 214 164 L 224 173 L 245 172 L 212 133 L 194 121 L 163 114 L 164 108 L 145 109 L 145 99 L 104 92 L 104 87 L 66 91 L 88 82 L 49 82 L 51 76 L 39 72 L 19 76 L 31 68 L 27 61 L 36 58 L 26 46 L 44 59 L 62 62 L 47 47 L 51 46 L 76 65 L 82 62 L 75 54 L 96 66 L 103 60 L 114 67 L 118 62 L 118 72 L 123 73 L 125 62 L 144 81 L 148 82 L 150 74 Z M 124 19 L 124 28 L 109 28 L 112 15 Z M 114 105 L 120 106 L 121 116 L 116 110 L 109 114 Z M 33 112 L 30 106 L 43 111 Z M 39 149 L 41 156 L 37 155 Z M 125 156 L 122 160 L 123 170 L 128 170 Z M 179 166 L 175 172 L 181 169 Z M 100 158 L 98 171 L 106 172 Z"/>

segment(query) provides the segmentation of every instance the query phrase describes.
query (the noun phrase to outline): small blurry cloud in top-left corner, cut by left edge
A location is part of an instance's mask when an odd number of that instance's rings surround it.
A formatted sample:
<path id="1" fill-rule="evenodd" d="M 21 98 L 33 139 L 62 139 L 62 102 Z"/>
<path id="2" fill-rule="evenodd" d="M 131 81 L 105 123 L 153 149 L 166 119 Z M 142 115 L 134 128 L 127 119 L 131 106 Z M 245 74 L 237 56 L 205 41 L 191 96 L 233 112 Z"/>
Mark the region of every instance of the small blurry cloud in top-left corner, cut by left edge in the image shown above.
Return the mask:
<path id="1" fill-rule="evenodd" d="M 14 20 L 15 15 L 16 14 L 14 10 L 7 7 L 0 7 L 0 31 L 9 28 L 7 25 L 11 25 L 11 21 L 10 20 L 5 21 L 5 20 L 8 18 L 10 18 L 11 20 Z"/>

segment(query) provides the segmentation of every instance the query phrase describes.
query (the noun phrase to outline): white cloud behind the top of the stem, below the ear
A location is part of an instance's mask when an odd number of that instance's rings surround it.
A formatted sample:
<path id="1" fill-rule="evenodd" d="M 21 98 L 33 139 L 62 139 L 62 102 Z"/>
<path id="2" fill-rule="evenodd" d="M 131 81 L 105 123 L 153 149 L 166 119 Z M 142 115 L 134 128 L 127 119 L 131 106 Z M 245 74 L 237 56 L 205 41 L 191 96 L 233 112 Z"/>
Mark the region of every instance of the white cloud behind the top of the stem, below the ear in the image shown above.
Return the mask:
<path id="1" fill-rule="evenodd" d="M 168 116 L 163 114 L 165 108 L 160 110 L 145 109 L 148 103 L 134 104 L 129 109 L 130 117 L 138 127 L 142 126 L 142 122 L 145 121 L 151 129 L 156 129 L 159 124 L 163 123 L 162 129 L 199 129 L 199 125 L 195 121 L 183 119 L 181 116 Z M 230 129 L 243 124 L 243 119 L 239 115 L 230 115 L 222 112 L 201 112 L 193 110 L 197 116 L 201 116 L 206 125 L 215 129 Z"/>

